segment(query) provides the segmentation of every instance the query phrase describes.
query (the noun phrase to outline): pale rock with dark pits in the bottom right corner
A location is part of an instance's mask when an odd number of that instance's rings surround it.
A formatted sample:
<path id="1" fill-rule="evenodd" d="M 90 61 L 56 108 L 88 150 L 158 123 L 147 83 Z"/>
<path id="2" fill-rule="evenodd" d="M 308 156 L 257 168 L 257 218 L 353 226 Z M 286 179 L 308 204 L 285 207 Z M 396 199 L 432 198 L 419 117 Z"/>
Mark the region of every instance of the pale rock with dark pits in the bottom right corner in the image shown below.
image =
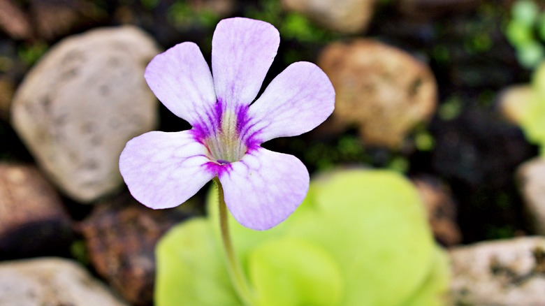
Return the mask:
<path id="1" fill-rule="evenodd" d="M 455 305 L 545 305 L 545 238 L 481 242 L 450 256 Z"/>

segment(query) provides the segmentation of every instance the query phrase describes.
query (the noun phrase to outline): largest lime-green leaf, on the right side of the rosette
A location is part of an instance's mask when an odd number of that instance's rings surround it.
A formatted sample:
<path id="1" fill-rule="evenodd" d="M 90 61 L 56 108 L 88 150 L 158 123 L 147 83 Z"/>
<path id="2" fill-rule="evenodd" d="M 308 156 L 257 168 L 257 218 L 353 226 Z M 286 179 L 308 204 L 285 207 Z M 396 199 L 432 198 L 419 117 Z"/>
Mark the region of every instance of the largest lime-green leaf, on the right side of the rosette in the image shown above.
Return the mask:
<path id="1" fill-rule="evenodd" d="M 400 305 L 423 283 L 434 242 L 423 203 L 405 177 L 351 170 L 314 182 L 313 214 L 288 233 L 328 250 L 345 284 L 342 305 Z"/>

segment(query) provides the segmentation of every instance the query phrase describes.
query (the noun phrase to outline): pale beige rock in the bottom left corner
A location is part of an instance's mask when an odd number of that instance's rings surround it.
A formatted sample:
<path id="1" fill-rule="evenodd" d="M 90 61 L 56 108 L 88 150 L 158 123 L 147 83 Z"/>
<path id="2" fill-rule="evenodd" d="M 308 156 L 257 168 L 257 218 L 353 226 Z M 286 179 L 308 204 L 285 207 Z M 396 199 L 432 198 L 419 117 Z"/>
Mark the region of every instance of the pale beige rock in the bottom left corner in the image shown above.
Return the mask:
<path id="1" fill-rule="evenodd" d="M 40 258 L 0 263 L 0 305 L 122 306 L 74 261 Z"/>

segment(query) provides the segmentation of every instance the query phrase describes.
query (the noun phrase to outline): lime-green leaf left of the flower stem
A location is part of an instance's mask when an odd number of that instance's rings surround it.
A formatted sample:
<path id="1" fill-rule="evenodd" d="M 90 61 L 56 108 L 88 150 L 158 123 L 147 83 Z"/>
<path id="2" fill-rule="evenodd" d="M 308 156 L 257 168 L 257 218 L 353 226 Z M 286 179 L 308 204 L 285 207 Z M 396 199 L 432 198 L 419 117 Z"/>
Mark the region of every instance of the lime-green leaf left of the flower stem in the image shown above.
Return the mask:
<path id="1" fill-rule="evenodd" d="M 155 305 L 241 305 L 208 220 L 175 226 L 156 249 Z"/>

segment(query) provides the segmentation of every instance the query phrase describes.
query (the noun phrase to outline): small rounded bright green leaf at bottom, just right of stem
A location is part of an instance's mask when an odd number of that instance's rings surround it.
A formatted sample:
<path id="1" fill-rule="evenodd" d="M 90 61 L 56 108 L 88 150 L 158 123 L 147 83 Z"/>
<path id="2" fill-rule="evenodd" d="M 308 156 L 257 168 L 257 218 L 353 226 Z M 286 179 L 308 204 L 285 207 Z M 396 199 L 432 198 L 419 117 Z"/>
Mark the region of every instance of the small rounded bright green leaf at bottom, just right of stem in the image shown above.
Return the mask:
<path id="1" fill-rule="evenodd" d="M 249 271 L 259 306 L 335 306 L 342 297 L 337 263 L 310 242 L 279 238 L 249 256 Z"/>

